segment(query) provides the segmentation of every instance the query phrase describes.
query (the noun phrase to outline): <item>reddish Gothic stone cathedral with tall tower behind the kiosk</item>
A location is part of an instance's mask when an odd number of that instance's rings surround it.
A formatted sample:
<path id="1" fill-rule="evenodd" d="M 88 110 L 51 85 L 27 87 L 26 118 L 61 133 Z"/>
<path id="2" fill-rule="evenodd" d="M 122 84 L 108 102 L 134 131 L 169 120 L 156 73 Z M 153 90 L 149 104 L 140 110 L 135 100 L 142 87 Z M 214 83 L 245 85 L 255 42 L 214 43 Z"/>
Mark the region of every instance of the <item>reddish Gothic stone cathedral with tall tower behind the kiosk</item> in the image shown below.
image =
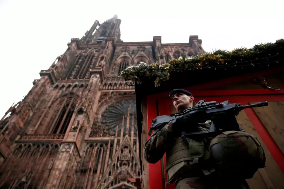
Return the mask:
<path id="1" fill-rule="evenodd" d="M 204 53 L 188 43 L 123 42 L 117 15 L 71 39 L 0 121 L 0 188 L 139 188 L 134 86 L 119 72 Z"/>

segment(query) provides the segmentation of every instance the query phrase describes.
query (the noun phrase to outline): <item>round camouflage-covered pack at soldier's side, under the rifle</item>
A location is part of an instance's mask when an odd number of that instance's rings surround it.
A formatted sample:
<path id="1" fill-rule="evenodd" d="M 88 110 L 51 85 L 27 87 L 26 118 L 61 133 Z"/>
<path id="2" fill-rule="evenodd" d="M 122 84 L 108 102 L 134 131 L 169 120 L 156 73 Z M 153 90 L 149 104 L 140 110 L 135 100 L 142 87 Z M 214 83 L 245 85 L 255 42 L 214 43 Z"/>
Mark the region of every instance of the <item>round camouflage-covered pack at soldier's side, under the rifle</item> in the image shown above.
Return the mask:
<path id="1" fill-rule="evenodd" d="M 256 137 L 243 131 L 225 131 L 212 138 L 209 152 L 221 175 L 249 179 L 265 167 L 266 157 Z"/>

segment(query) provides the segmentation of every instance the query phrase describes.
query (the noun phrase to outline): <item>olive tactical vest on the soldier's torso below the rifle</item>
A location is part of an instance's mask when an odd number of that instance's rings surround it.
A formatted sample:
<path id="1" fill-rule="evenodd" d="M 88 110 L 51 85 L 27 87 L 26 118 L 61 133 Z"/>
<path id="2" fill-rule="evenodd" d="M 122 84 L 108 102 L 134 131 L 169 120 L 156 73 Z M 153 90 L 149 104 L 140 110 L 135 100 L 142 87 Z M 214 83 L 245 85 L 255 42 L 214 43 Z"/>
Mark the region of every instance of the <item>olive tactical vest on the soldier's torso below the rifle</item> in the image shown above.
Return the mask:
<path id="1" fill-rule="evenodd" d="M 199 130 L 208 131 L 201 127 Z M 174 143 L 166 152 L 168 183 L 173 183 L 184 174 L 192 174 L 192 177 L 199 176 L 198 171 L 201 171 L 202 167 L 207 164 L 209 157 L 206 139 L 175 138 Z"/>

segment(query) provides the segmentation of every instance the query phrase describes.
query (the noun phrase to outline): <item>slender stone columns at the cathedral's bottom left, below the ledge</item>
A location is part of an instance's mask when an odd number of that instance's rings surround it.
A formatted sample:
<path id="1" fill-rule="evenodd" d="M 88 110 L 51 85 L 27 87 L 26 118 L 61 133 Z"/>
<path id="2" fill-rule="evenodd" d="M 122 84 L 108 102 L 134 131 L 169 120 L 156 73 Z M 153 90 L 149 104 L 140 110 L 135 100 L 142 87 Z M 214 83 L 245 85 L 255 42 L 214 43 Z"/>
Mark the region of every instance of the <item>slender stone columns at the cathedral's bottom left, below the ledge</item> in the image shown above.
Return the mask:
<path id="1" fill-rule="evenodd" d="M 59 151 L 58 143 L 18 143 L 12 152 L 13 157 L 1 167 L 0 188 L 15 180 L 14 187 L 37 188 L 47 180 L 46 172 L 53 164 Z M 28 167 L 28 169 L 27 169 Z M 9 169 L 6 169 L 9 168 Z M 33 174 L 36 173 L 36 174 Z M 24 180 L 24 183 L 21 181 Z"/>

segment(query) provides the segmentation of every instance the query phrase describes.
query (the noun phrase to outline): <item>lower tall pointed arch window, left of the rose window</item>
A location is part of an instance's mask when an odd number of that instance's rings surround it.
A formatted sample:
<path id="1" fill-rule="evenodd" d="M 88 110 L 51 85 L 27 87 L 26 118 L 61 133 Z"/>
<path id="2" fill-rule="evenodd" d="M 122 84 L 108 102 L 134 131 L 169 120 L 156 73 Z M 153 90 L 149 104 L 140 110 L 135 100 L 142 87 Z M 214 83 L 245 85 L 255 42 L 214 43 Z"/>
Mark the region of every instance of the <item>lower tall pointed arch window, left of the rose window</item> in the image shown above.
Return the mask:
<path id="1" fill-rule="evenodd" d="M 68 128 L 68 125 L 71 121 L 72 115 L 74 113 L 76 104 L 71 101 L 67 101 L 63 107 L 61 107 L 61 111 L 57 116 L 56 121 L 54 122 L 54 126 L 52 127 L 52 134 L 65 134 Z"/>

